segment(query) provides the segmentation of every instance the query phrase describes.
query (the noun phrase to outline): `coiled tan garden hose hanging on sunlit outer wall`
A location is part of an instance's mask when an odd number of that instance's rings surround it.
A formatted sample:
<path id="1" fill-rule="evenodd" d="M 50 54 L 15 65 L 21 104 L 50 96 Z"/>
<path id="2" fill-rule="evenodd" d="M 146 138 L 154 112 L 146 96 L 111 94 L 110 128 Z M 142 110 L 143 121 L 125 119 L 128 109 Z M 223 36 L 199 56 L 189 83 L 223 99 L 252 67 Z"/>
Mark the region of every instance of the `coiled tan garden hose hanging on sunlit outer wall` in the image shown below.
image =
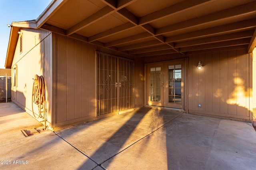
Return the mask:
<path id="1" fill-rule="evenodd" d="M 33 90 L 32 90 L 32 112 L 34 117 L 38 119 L 39 117 L 44 119 L 44 129 L 46 128 L 46 100 L 45 100 L 45 86 L 44 86 L 44 77 L 34 76 Z M 36 104 L 38 107 L 38 116 L 35 115 L 33 104 Z M 43 113 L 43 114 L 42 114 Z"/>

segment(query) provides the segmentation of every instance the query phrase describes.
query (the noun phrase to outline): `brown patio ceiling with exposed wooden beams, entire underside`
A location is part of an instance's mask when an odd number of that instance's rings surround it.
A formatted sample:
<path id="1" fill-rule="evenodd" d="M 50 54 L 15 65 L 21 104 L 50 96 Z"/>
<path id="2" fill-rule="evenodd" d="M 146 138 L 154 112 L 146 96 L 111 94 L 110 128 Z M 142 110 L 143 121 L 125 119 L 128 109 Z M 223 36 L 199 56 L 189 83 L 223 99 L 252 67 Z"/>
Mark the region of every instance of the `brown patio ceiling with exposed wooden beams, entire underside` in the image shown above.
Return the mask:
<path id="1" fill-rule="evenodd" d="M 134 57 L 256 46 L 255 0 L 55 0 L 36 23 Z"/>

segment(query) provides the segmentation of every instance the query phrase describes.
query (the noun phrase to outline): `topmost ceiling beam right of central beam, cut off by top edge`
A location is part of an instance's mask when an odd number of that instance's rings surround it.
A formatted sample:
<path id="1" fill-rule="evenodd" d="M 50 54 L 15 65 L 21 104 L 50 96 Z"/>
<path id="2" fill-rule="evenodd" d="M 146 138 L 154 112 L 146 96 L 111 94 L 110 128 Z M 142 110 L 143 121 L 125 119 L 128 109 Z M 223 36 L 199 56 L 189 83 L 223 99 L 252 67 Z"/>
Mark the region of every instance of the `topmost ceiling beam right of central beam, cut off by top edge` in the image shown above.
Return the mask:
<path id="1" fill-rule="evenodd" d="M 185 0 L 180 3 L 174 4 L 167 8 L 164 8 L 162 10 L 153 12 L 151 14 L 148 14 L 146 16 L 139 18 L 139 25 L 144 25 L 144 24 L 150 23 L 152 21 L 160 20 L 162 18 L 171 16 L 171 15 L 174 15 L 174 14 L 177 14 L 180 12 L 184 12 L 191 8 L 195 8 L 199 5 L 209 3 L 211 1 L 212 0 Z"/>

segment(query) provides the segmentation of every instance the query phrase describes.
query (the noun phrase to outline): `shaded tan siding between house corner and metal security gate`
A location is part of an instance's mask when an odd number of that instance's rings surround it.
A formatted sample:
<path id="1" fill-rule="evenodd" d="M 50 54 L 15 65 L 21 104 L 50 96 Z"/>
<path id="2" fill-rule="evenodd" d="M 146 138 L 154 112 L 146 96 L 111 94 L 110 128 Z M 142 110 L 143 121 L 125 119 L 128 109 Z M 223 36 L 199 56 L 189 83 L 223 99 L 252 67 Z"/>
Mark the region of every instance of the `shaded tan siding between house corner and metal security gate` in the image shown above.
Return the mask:
<path id="1" fill-rule="evenodd" d="M 56 127 L 96 117 L 95 47 L 53 33 Z"/>

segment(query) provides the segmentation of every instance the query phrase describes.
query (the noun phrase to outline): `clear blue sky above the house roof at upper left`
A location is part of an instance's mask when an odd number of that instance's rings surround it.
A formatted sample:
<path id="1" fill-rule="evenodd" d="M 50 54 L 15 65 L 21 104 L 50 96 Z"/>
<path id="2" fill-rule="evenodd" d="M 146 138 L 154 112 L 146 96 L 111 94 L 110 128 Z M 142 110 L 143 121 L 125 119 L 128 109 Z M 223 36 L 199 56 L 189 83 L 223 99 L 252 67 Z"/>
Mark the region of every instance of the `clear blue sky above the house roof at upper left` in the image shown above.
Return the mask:
<path id="1" fill-rule="evenodd" d="M 52 0 L 0 0 L 0 68 L 4 68 L 10 36 L 7 24 L 35 20 Z"/>

